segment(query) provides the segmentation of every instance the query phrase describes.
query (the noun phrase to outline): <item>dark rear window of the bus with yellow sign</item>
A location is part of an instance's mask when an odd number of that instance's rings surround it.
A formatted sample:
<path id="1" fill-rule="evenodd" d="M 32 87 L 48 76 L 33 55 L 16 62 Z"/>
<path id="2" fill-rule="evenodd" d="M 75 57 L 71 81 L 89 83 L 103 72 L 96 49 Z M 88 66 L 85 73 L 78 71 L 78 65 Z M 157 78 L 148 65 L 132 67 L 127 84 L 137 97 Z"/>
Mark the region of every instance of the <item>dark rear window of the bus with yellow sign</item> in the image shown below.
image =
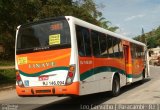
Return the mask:
<path id="1" fill-rule="evenodd" d="M 67 20 L 45 21 L 22 25 L 17 38 L 17 51 L 70 45 L 70 29 Z"/>

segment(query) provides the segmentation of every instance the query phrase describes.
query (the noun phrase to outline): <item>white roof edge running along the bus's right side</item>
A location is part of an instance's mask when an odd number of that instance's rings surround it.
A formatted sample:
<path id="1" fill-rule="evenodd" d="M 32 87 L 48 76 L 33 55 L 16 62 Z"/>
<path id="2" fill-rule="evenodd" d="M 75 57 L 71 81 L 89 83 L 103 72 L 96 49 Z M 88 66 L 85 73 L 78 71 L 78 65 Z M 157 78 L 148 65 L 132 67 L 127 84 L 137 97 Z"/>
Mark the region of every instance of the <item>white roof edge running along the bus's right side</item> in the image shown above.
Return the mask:
<path id="1" fill-rule="evenodd" d="M 93 25 L 91 23 L 88 23 L 86 21 L 83 21 L 83 20 L 80 20 L 76 17 L 73 17 L 73 16 L 65 16 L 66 19 L 72 19 L 72 21 L 77 24 L 77 25 L 80 25 L 80 26 L 83 26 L 83 27 L 87 27 L 87 28 L 90 28 L 90 29 L 93 29 L 93 30 L 96 30 L 98 32 L 102 32 L 102 33 L 105 33 L 105 34 L 108 34 L 108 35 L 111 35 L 111 36 L 114 36 L 114 37 L 117 37 L 117 38 L 120 38 L 120 39 L 123 39 L 123 40 L 126 40 L 126 41 L 129 41 L 129 42 L 132 42 L 132 43 L 135 43 L 135 44 L 138 44 L 138 45 L 142 45 L 142 46 L 146 46 L 144 43 L 142 42 L 139 42 L 139 41 L 136 41 L 136 40 L 133 40 L 131 38 L 128 38 L 128 37 L 125 37 L 123 35 L 120 35 L 120 34 L 117 34 L 117 33 L 114 33 L 114 32 L 111 32 L 109 30 L 106 30 L 102 27 L 99 27 L 99 26 L 96 26 L 96 25 Z"/>

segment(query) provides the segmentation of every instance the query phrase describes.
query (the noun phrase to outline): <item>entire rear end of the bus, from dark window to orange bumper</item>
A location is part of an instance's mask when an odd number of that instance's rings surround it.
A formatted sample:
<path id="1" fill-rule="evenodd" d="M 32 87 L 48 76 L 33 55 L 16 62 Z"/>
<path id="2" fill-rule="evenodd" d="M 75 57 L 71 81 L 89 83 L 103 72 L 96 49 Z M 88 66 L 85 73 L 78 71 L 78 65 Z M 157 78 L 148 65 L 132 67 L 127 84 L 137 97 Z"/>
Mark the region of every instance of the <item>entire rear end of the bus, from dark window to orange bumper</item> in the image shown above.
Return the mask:
<path id="1" fill-rule="evenodd" d="M 78 95 L 66 19 L 22 25 L 16 46 L 18 95 Z"/>

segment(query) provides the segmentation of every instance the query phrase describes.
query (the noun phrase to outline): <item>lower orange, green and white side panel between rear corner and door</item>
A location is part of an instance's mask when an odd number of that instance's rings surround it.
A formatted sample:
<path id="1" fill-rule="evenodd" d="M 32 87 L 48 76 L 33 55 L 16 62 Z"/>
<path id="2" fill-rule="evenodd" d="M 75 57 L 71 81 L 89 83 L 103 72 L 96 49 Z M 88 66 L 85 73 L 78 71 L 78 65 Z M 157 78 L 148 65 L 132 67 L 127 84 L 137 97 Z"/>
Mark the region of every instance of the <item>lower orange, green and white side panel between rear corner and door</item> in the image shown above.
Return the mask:
<path id="1" fill-rule="evenodd" d="M 115 58 L 80 58 L 80 95 L 92 94 L 104 91 L 110 91 L 112 89 L 112 79 L 115 73 L 120 75 L 120 84 L 124 86 L 126 84 L 124 59 Z M 82 61 L 88 61 L 94 63 L 94 66 L 84 65 Z"/>

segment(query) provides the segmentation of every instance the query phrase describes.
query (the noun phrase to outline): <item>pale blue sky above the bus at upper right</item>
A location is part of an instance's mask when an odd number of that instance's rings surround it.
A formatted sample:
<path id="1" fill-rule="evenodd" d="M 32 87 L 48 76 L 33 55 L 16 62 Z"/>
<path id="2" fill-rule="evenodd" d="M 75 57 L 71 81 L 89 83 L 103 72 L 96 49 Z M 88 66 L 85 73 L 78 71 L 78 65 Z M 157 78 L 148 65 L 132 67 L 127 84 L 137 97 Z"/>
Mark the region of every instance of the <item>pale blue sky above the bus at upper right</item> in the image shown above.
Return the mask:
<path id="1" fill-rule="evenodd" d="M 94 0 L 117 33 L 135 37 L 160 26 L 160 0 Z"/>

